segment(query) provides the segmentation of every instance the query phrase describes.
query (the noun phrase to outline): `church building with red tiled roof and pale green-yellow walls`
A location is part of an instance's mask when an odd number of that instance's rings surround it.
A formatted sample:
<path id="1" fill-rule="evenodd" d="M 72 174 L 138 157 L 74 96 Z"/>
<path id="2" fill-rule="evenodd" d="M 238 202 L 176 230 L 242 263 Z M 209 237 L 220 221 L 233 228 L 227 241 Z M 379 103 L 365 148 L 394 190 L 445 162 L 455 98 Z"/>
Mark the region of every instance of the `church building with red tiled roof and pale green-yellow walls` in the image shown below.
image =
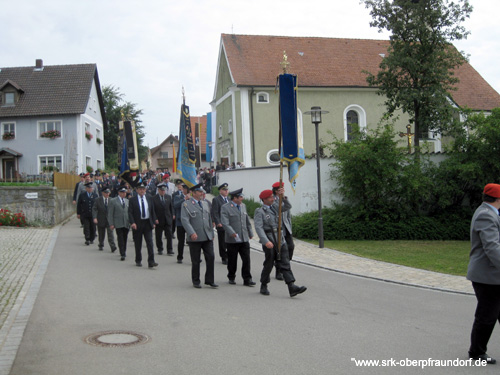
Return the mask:
<path id="1" fill-rule="evenodd" d="M 289 73 L 298 77 L 298 121 L 306 155 L 316 147 L 314 125 L 304 115 L 313 106 L 329 112 L 319 125 L 322 143 L 333 139 L 329 132 L 348 140 L 352 124 L 375 128 L 385 112 L 384 97 L 368 86 L 364 71 L 376 73 L 388 47 L 387 40 L 222 34 L 211 102 L 215 161 L 247 167 L 279 163 L 275 86 L 284 51 Z M 450 99 L 456 106 L 482 111 L 500 106 L 500 95 L 470 64 L 455 73 L 460 83 Z M 406 132 L 407 124 L 408 116 L 400 113 L 396 130 Z M 441 151 L 439 134 L 420 137 L 431 151 Z"/>

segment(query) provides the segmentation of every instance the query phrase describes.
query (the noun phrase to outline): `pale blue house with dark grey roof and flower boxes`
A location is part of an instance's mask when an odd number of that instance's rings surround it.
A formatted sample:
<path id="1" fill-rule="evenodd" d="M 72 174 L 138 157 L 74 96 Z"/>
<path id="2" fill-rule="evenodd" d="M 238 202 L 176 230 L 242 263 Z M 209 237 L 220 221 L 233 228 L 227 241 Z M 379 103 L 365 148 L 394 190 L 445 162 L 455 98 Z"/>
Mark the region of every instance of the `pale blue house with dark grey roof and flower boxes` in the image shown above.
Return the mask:
<path id="1" fill-rule="evenodd" d="M 105 125 L 96 64 L 0 68 L 0 178 L 103 169 Z"/>

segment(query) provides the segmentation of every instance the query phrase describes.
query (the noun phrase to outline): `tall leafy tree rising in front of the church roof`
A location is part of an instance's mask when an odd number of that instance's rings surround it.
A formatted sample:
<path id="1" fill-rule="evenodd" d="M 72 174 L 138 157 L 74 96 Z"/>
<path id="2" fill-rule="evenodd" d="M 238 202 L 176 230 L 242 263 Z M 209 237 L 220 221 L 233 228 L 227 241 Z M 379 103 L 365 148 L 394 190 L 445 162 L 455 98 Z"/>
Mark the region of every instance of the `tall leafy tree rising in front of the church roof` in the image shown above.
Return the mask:
<path id="1" fill-rule="evenodd" d="M 370 86 L 386 96 L 387 113 L 401 109 L 414 124 L 415 147 L 429 130 L 444 131 L 453 120 L 450 92 L 453 71 L 466 59 L 451 44 L 469 34 L 461 23 L 470 17 L 468 0 L 362 0 L 371 9 L 370 26 L 392 33 L 379 72 Z"/>

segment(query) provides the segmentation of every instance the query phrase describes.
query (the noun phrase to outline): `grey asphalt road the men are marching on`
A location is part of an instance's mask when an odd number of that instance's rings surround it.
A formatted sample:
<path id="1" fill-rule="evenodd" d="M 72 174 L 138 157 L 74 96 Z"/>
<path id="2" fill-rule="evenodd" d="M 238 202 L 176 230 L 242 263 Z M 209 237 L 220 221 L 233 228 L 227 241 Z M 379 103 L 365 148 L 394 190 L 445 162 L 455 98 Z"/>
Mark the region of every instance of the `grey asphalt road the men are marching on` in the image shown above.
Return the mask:
<path id="1" fill-rule="evenodd" d="M 295 298 L 274 280 L 271 295 L 227 283 L 216 256 L 218 289 L 195 289 L 189 256 L 134 264 L 83 244 L 71 220 L 59 232 L 12 375 L 78 374 L 471 374 L 498 365 L 421 367 L 408 360 L 467 360 L 475 298 L 363 279 L 292 264 Z M 143 250 L 143 257 L 145 250 Z M 186 248 L 186 255 L 188 251 Z M 252 252 L 258 282 L 263 255 Z M 143 262 L 146 264 L 146 262 Z M 204 272 L 202 263 L 202 274 Z M 126 330 L 150 337 L 130 347 L 97 347 L 84 338 Z M 500 334 L 490 354 L 500 357 Z M 390 367 L 356 366 L 386 360 Z M 400 366 L 396 362 L 405 366 Z M 380 364 L 382 364 L 380 362 Z M 420 363 L 423 365 L 424 363 Z"/>

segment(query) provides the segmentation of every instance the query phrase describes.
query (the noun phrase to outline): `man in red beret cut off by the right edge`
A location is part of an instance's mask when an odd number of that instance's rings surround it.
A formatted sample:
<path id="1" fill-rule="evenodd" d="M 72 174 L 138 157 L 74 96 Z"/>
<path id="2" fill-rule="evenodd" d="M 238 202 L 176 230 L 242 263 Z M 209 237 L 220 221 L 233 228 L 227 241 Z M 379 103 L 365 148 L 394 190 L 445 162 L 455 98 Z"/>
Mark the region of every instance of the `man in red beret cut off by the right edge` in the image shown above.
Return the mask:
<path id="1" fill-rule="evenodd" d="M 500 321 L 500 185 L 487 184 L 483 203 L 472 217 L 471 252 L 467 279 L 477 298 L 469 357 L 496 363 L 486 349 L 495 324 Z"/>

